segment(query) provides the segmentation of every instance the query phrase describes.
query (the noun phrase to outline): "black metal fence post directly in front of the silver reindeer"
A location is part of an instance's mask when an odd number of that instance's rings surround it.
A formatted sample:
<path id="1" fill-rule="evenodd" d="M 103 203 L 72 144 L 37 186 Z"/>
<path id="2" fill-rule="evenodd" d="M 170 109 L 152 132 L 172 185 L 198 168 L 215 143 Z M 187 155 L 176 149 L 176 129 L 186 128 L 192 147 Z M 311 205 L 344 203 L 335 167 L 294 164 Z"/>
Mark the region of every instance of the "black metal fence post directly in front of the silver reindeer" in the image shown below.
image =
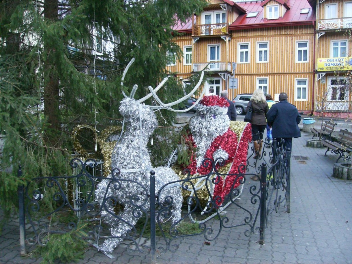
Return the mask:
<path id="1" fill-rule="evenodd" d="M 150 263 L 156 263 L 155 256 L 155 171 L 150 172 Z"/>

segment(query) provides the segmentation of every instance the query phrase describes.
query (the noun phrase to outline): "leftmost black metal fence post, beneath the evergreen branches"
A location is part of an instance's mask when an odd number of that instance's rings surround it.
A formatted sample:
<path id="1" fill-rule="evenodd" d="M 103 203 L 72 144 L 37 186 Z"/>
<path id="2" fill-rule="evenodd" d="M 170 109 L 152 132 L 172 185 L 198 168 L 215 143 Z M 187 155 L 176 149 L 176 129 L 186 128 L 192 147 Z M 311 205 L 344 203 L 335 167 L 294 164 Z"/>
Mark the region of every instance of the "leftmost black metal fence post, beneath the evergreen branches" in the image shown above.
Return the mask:
<path id="1" fill-rule="evenodd" d="M 18 165 L 17 177 L 22 176 L 21 165 Z M 19 184 L 18 186 L 18 208 L 19 208 L 19 225 L 20 225 L 20 253 L 21 256 L 25 256 L 26 253 L 26 221 L 24 214 L 24 186 Z"/>

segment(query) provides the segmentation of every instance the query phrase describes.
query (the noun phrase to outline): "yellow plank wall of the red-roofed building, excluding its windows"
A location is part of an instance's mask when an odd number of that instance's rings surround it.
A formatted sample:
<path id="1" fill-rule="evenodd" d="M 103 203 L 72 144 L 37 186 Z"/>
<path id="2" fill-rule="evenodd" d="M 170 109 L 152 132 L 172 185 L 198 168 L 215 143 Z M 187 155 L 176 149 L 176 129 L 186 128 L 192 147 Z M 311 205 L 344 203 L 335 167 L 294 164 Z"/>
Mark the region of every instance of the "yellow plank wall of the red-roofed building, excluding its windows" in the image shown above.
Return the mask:
<path id="1" fill-rule="evenodd" d="M 277 27 L 233 31 L 228 43 L 229 62 L 237 62 L 235 78 L 238 78 L 238 89 L 229 89 L 229 98 L 239 93 L 252 93 L 256 89 L 257 78 L 268 78 L 268 93 L 286 92 L 289 101 L 300 111 L 312 110 L 314 85 L 314 28 L 312 26 Z M 296 63 L 296 42 L 308 41 L 308 62 Z M 184 45 L 193 43 L 190 34 L 175 39 L 183 50 Z M 268 42 L 268 62 L 257 62 L 257 43 Z M 249 63 L 238 63 L 238 44 L 250 44 Z M 208 62 L 208 45 L 220 44 L 220 61 L 227 61 L 226 42 L 220 37 L 200 38 L 193 44 L 193 63 Z M 172 68 L 172 67 L 171 67 Z M 172 68 L 179 74 L 191 74 L 191 66 L 183 65 L 183 59 Z M 184 75 L 185 76 L 185 75 Z M 220 77 L 214 74 L 213 77 Z M 306 78 L 308 92 L 306 100 L 295 100 L 295 79 Z M 227 89 L 228 82 L 222 80 L 222 89 Z"/>

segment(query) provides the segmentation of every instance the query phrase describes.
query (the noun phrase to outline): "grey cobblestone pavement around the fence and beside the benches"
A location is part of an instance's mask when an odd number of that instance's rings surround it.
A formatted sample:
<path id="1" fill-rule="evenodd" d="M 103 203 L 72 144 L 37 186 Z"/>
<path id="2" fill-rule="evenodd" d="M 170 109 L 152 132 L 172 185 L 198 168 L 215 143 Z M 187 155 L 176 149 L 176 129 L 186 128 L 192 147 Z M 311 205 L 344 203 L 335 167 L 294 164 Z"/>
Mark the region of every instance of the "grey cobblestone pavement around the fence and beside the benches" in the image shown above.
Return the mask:
<path id="1" fill-rule="evenodd" d="M 352 263 L 352 181 L 331 176 L 337 155 L 306 147 L 310 138 L 311 133 L 302 132 L 293 140 L 291 212 L 282 208 L 271 215 L 265 245 L 255 242 L 259 235 L 246 237 L 245 227 L 229 228 L 210 245 L 201 235 L 177 240 L 177 251 L 157 253 L 157 263 Z M 246 204 L 245 195 L 239 204 Z M 229 206 L 227 215 L 237 216 L 236 210 Z M 90 247 L 79 263 L 151 263 L 149 254 L 129 252 L 124 244 L 112 255 L 114 259 Z M 0 263 L 40 263 L 20 257 L 18 221 L 2 229 Z"/>

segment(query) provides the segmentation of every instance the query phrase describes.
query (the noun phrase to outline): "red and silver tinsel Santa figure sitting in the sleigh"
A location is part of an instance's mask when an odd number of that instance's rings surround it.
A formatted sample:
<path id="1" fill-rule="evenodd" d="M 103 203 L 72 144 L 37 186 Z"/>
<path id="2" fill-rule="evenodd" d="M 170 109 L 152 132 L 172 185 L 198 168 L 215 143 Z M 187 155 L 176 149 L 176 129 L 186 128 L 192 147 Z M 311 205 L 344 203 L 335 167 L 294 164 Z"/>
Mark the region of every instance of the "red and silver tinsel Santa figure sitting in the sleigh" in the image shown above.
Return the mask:
<path id="1" fill-rule="evenodd" d="M 189 123 L 192 133 L 189 140 L 192 141 L 195 147 L 195 152 L 191 155 L 190 164 L 187 166 L 191 175 L 206 175 L 210 172 L 212 166 L 206 168 L 202 165 L 202 161 L 205 158 L 211 158 L 214 161 L 217 158 L 223 158 L 225 166 L 231 163 L 226 174 L 238 174 L 238 165 L 246 163 L 248 144 L 243 144 L 243 147 L 239 148 L 238 137 L 230 129 L 230 119 L 227 115 L 228 106 L 229 103 L 225 98 L 216 95 L 205 96 L 200 101 L 197 113 L 191 118 Z M 250 126 L 248 128 L 243 133 L 248 134 Z M 243 138 L 247 138 L 247 136 Z M 248 139 L 243 140 L 243 143 L 245 141 L 248 141 Z M 219 168 L 219 165 L 216 165 L 216 168 Z M 239 186 L 240 178 L 232 186 L 235 178 L 236 176 L 230 175 L 225 179 L 222 177 L 217 179 L 213 197 L 221 197 L 221 199 L 216 199 L 218 205 L 221 205 L 225 195 L 231 189 Z"/>

